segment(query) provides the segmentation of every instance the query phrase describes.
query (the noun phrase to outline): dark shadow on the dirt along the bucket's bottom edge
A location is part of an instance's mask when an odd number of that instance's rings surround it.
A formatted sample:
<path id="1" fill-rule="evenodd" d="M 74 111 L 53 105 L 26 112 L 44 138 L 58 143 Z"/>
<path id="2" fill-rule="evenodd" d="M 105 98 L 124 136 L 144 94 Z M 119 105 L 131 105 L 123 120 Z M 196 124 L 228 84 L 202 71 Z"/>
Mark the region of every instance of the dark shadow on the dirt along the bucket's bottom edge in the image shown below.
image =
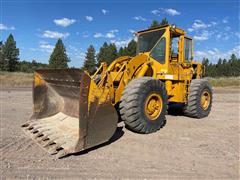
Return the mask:
<path id="1" fill-rule="evenodd" d="M 101 148 L 101 147 L 104 147 L 104 146 L 107 146 L 107 145 L 110 145 L 112 144 L 113 142 L 117 141 L 118 139 L 120 139 L 123 134 L 124 134 L 124 131 L 122 130 L 123 129 L 123 126 L 121 127 L 117 127 L 116 131 L 114 132 L 113 136 L 109 139 L 109 141 L 105 142 L 105 143 L 102 143 L 102 144 L 99 144 L 97 146 L 94 146 L 92 148 L 89 148 L 89 149 L 86 149 L 84 151 L 81 151 L 81 152 L 77 152 L 77 153 L 73 153 L 73 154 L 68 154 L 60 159 L 64 159 L 64 158 L 67 158 L 69 156 L 80 156 L 80 155 L 84 155 L 84 154 L 87 154 L 88 152 L 90 151 L 94 151 L 98 148 Z"/>

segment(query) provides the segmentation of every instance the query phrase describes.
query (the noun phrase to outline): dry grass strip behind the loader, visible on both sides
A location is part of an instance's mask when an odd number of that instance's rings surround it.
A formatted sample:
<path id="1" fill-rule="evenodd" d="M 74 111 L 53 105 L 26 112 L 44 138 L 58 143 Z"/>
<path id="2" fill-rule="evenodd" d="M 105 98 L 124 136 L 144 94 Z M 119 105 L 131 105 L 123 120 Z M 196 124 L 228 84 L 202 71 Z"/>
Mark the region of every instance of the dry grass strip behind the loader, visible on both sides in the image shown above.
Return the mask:
<path id="1" fill-rule="evenodd" d="M 207 78 L 213 87 L 240 86 L 240 77 Z M 1 87 L 32 87 L 33 74 L 0 72 Z"/>

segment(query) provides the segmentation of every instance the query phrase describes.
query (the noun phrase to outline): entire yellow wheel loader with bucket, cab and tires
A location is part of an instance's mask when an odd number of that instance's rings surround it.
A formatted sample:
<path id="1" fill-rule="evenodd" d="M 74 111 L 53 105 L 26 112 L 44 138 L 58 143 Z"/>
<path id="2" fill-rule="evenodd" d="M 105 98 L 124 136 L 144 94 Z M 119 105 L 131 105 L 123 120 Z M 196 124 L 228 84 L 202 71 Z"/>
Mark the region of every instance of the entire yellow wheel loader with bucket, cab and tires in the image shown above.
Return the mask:
<path id="1" fill-rule="evenodd" d="M 123 56 L 94 75 L 80 69 L 36 70 L 33 115 L 23 130 L 58 157 L 108 141 L 119 120 L 137 133 L 166 123 L 168 104 L 193 118 L 208 116 L 212 89 L 193 61 L 193 41 L 173 25 L 136 33 L 137 55 Z"/>

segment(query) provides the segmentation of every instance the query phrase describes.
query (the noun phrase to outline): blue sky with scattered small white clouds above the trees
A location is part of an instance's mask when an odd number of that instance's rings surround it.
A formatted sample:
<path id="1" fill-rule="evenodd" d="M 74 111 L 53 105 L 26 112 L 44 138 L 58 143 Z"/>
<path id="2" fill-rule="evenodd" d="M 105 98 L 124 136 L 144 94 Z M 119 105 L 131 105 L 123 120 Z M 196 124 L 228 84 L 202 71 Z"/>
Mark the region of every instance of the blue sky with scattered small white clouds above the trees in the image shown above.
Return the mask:
<path id="1" fill-rule="evenodd" d="M 239 0 L 0 0 L 0 6 L 0 41 L 12 33 L 21 60 L 48 63 L 62 38 L 70 67 L 80 67 L 90 44 L 97 52 L 105 41 L 126 46 L 135 31 L 164 17 L 194 38 L 195 60 L 240 56 Z"/>

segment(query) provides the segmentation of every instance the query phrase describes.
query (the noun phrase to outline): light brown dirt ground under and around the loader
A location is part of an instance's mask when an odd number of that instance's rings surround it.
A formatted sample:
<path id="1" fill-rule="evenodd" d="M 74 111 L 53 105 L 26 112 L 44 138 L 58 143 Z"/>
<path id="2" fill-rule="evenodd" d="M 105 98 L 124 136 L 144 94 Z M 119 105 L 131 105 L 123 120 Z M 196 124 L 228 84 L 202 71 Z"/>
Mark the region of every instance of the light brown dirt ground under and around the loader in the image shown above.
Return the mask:
<path id="1" fill-rule="evenodd" d="M 31 89 L 2 89 L 2 179 L 239 179 L 238 88 L 214 89 L 204 119 L 167 116 L 160 131 L 119 128 L 111 143 L 63 159 L 47 154 L 20 126 L 32 112 Z"/>

